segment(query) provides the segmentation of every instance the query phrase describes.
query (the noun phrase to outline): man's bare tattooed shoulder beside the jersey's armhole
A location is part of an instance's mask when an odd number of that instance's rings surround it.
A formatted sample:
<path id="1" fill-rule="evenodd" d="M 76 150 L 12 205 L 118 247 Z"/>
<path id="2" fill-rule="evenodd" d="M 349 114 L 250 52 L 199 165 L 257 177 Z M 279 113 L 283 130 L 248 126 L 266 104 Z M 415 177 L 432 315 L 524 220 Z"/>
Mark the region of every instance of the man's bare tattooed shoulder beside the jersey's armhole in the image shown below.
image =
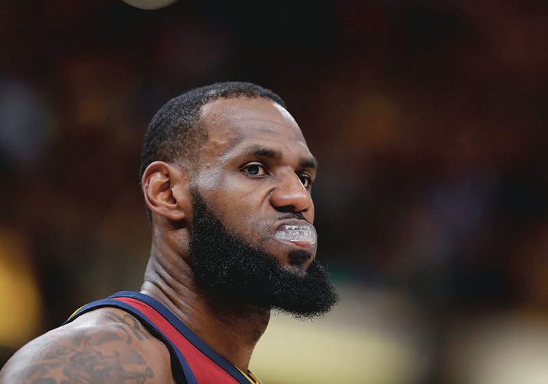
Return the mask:
<path id="1" fill-rule="evenodd" d="M 29 342 L 0 371 L 0 384 L 175 383 L 169 352 L 134 316 L 86 313 Z"/>

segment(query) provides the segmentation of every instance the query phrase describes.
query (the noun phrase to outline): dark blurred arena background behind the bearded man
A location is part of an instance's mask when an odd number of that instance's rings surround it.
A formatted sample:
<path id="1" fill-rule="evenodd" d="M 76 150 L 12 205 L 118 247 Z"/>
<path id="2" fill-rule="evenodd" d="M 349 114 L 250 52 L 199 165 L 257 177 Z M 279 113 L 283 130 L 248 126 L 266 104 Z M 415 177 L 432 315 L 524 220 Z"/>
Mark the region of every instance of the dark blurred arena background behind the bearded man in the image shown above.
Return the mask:
<path id="1" fill-rule="evenodd" d="M 138 290 L 142 136 L 214 81 L 279 93 L 320 162 L 341 303 L 274 316 L 266 384 L 548 382 L 548 2 L 0 5 L 0 363 Z"/>

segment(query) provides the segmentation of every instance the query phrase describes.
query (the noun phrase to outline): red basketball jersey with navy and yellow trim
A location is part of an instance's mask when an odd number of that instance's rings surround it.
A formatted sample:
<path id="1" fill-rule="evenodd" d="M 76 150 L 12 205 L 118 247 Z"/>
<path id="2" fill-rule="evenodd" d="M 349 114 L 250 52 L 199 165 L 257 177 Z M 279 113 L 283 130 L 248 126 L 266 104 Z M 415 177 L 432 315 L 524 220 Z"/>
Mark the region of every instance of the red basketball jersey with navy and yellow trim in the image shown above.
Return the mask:
<path id="1" fill-rule="evenodd" d="M 139 292 L 118 292 L 84 305 L 64 324 L 101 307 L 114 307 L 131 313 L 166 345 L 177 384 L 260 384 L 252 374 L 245 375 L 216 353 L 162 303 Z"/>

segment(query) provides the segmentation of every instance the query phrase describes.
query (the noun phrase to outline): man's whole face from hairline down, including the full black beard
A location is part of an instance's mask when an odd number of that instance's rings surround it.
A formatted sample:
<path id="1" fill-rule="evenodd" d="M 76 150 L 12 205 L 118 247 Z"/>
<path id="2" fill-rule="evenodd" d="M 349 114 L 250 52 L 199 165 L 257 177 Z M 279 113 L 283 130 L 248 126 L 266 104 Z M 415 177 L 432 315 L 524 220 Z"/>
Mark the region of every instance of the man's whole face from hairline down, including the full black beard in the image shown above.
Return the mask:
<path id="1" fill-rule="evenodd" d="M 314 260 L 316 162 L 295 120 L 266 99 L 203 107 L 209 140 L 192 178 L 190 253 L 212 292 L 311 317 L 336 303 Z"/>

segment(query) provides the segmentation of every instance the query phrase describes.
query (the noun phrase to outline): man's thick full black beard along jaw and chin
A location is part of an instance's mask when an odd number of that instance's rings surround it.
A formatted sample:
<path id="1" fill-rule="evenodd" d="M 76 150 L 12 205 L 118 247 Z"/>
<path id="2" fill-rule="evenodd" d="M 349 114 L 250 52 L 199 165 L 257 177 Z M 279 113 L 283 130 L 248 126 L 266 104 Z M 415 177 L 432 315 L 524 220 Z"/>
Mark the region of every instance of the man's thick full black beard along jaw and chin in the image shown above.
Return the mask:
<path id="1" fill-rule="evenodd" d="M 192 190 L 192 216 L 190 265 L 197 283 L 214 296 L 303 319 L 322 316 L 338 302 L 327 271 L 316 259 L 303 273 L 284 268 L 273 255 L 229 232 L 196 190 Z M 295 266 L 311 255 L 294 251 L 288 257 Z"/>

